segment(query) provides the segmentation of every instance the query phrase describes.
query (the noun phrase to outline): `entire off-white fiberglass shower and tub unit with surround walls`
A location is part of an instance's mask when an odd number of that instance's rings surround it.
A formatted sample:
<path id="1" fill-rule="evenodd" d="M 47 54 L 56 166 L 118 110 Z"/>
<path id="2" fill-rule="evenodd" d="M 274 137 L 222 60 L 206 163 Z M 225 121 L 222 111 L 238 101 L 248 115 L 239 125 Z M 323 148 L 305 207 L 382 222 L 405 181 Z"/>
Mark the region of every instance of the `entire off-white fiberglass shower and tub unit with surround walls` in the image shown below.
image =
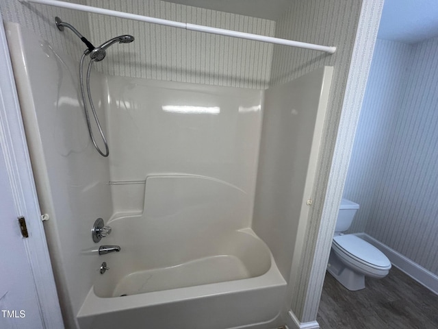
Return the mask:
<path id="1" fill-rule="evenodd" d="M 79 63 L 6 23 L 68 327 L 283 325 L 333 69 L 266 90 L 103 75 L 133 36 L 56 26 Z"/>

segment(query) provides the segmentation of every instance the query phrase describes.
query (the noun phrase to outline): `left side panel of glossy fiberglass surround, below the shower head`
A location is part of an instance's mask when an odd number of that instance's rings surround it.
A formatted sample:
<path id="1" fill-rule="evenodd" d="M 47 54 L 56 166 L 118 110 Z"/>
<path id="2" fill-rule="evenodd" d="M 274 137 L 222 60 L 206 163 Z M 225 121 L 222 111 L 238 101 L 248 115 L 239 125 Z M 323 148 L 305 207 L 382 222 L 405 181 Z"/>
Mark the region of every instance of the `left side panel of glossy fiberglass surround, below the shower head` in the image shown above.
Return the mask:
<path id="1" fill-rule="evenodd" d="M 112 215 L 109 166 L 88 136 L 77 60 L 19 25 L 9 24 L 7 31 L 40 208 L 50 217 L 44 229 L 64 321 L 74 328 L 99 275 L 90 229 L 96 218 Z M 99 88 L 92 91 L 101 94 Z"/>

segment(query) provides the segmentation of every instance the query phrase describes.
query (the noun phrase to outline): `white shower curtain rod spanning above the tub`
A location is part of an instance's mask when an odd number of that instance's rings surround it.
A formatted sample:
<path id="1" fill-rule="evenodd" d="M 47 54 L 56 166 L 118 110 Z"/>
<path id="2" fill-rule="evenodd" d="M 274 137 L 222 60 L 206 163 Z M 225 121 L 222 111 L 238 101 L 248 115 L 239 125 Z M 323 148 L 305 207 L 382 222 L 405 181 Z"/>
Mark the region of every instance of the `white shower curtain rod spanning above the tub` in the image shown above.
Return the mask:
<path id="1" fill-rule="evenodd" d="M 179 27 L 181 29 L 189 29 L 191 31 L 218 34 L 220 36 L 233 36 L 235 38 L 269 42 L 269 43 L 274 43 L 276 45 L 286 45 L 292 47 L 325 51 L 326 53 L 335 53 L 336 51 L 336 47 L 314 45 L 313 43 L 274 38 L 272 36 L 260 36 L 258 34 L 236 32 L 236 31 L 231 31 L 229 29 L 218 29 L 216 27 L 208 27 L 208 26 L 196 25 L 190 23 L 180 23 L 175 21 L 168 21 L 167 19 L 155 19 L 154 17 L 130 14 L 129 12 L 118 12 L 116 10 L 96 8 L 96 7 L 91 7 L 90 5 L 79 5 L 77 3 L 69 3 L 69 2 L 57 1 L 57 0 L 18 0 L 18 1 L 27 2 L 27 3 L 40 3 L 42 5 L 53 5 L 55 7 L 80 10 L 82 12 L 92 12 L 94 14 L 103 14 L 107 16 L 120 17 L 121 19 L 132 19 L 134 21 L 142 21 L 146 23 L 166 25 L 171 27 Z"/>

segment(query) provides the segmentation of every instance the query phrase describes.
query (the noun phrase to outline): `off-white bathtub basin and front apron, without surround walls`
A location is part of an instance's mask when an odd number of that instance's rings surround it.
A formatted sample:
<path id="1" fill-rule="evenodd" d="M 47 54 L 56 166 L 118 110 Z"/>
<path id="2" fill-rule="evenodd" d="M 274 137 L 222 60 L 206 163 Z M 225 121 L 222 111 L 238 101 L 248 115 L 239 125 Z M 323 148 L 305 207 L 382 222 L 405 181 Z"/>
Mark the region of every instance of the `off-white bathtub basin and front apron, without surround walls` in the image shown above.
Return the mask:
<path id="1" fill-rule="evenodd" d="M 114 221 L 112 227 L 119 229 Z M 269 323 L 281 309 L 286 282 L 268 247 L 249 228 L 210 241 L 201 249 L 194 243 L 198 258 L 172 267 L 142 269 L 146 264 L 129 255 L 129 247 L 106 255 L 110 271 L 90 289 L 79 326 L 224 329 Z"/>

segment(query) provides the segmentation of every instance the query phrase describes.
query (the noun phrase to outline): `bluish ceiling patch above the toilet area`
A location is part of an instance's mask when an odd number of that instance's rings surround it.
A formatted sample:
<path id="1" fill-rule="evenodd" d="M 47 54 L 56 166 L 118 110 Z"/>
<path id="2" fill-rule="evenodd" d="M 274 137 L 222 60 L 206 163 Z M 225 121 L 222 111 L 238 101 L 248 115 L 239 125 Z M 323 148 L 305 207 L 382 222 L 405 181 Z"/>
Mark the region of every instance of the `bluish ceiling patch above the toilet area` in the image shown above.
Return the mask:
<path id="1" fill-rule="evenodd" d="M 435 36 L 437 0 L 385 0 L 378 38 L 416 43 Z"/>

